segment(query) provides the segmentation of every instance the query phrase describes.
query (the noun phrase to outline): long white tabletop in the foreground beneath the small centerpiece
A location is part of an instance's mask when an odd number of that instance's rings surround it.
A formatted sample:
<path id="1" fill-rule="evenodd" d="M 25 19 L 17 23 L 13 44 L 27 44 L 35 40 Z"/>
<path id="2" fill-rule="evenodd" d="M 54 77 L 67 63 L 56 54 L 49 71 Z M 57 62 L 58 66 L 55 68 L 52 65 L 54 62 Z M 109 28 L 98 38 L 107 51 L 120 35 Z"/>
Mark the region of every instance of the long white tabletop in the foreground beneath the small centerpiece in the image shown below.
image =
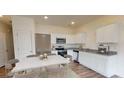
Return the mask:
<path id="1" fill-rule="evenodd" d="M 20 59 L 16 66 L 11 70 L 12 73 L 26 71 L 50 65 L 68 64 L 70 61 L 60 55 L 50 55 L 47 59 L 41 60 L 39 57 L 26 57 Z"/>

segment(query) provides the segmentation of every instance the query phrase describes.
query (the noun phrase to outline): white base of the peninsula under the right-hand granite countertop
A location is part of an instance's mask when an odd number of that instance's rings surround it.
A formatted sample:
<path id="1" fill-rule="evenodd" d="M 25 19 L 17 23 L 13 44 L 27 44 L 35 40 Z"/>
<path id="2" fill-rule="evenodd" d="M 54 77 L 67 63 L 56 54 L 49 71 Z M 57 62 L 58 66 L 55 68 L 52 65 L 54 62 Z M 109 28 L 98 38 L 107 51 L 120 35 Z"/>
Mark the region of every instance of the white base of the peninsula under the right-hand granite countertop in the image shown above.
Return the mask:
<path id="1" fill-rule="evenodd" d="M 106 77 L 111 77 L 115 74 L 116 56 L 79 52 L 79 62 Z"/>

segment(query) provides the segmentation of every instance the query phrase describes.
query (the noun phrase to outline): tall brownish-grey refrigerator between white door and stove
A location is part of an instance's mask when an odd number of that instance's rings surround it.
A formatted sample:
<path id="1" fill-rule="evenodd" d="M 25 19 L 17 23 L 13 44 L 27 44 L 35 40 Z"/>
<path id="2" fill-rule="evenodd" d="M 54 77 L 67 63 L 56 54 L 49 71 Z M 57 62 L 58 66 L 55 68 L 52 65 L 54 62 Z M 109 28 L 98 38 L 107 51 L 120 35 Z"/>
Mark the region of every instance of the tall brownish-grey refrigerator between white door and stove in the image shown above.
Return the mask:
<path id="1" fill-rule="evenodd" d="M 35 34 L 36 53 L 50 53 L 51 52 L 51 35 L 49 34 Z"/>

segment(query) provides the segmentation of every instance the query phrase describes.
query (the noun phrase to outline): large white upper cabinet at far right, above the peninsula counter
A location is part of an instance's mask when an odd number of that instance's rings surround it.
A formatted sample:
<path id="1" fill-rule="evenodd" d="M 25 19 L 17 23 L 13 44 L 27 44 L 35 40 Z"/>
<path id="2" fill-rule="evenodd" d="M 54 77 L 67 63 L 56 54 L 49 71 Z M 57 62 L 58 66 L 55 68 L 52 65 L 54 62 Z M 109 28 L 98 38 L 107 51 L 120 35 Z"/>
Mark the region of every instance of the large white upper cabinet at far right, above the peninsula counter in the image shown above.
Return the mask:
<path id="1" fill-rule="evenodd" d="M 96 31 L 96 42 L 97 43 L 118 43 L 118 32 L 119 25 L 111 24 L 101 28 Z"/>

